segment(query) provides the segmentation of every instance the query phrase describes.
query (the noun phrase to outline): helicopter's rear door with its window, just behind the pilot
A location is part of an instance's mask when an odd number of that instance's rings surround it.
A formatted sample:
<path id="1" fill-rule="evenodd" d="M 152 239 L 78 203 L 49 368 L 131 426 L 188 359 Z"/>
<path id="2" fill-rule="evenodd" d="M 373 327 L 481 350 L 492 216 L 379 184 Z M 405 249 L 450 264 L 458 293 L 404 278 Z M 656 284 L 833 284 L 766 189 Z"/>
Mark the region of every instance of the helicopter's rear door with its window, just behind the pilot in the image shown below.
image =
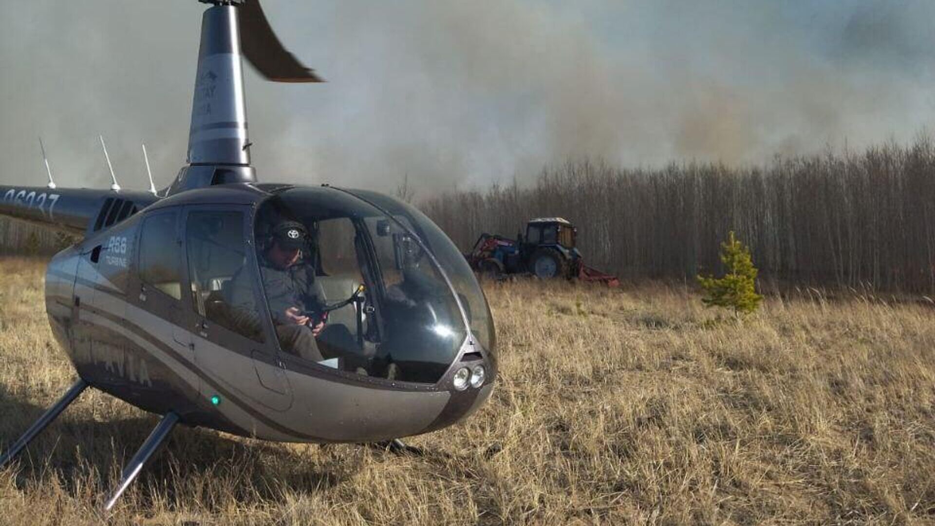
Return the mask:
<path id="1" fill-rule="evenodd" d="M 293 397 L 258 300 L 251 222 L 248 207 L 186 208 L 189 327 L 195 360 L 212 380 L 202 383 L 202 396 L 219 395 L 217 387 L 224 387 L 285 411 Z"/>

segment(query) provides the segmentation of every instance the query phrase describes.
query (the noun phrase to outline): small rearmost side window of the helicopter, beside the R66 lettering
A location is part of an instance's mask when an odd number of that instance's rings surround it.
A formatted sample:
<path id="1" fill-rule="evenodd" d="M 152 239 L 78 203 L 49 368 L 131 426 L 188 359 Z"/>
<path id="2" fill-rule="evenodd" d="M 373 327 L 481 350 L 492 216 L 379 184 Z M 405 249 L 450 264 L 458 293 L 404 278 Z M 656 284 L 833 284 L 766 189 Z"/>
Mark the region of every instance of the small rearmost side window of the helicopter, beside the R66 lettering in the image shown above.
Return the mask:
<path id="1" fill-rule="evenodd" d="M 176 212 L 151 214 L 143 222 L 139 245 L 139 279 L 181 300 L 181 248 Z"/>

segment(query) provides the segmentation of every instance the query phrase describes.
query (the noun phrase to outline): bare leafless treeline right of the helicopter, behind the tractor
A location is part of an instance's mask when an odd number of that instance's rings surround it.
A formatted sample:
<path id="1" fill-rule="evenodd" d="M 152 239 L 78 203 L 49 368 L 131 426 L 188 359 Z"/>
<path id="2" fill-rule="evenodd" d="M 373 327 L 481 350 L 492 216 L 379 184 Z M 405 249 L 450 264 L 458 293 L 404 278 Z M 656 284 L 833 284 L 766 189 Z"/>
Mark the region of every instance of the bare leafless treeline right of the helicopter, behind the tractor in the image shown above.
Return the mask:
<path id="1" fill-rule="evenodd" d="M 585 261 L 598 269 L 694 279 L 720 270 L 719 243 L 734 230 L 767 280 L 935 293 L 927 138 L 762 168 L 568 163 L 543 170 L 529 188 L 494 185 L 419 205 L 466 252 L 482 232 L 514 236 L 529 218 L 558 215 L 578 226 Z"/>

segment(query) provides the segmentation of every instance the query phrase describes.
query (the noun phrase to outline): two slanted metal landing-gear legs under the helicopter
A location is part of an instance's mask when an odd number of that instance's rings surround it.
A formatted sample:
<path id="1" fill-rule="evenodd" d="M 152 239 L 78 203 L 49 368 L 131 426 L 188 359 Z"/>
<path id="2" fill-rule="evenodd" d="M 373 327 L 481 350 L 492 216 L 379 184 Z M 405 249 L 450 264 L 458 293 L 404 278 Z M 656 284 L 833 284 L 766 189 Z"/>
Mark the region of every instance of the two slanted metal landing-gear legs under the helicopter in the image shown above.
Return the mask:
<path id="1" fill-rule="evenodd" d="M 68 407 L 71 402 L 75 402 L 75 399 L 78 398 L 79 394 L 81 394 L 86 387 L 88 387 L 88 383 L 84 380 L 79 379 L 75 382 L 58 402 L 55 402 L 42 416 L 39 416 L 36 423 L 30 426 L 19 440 L 12 446 L 9 446 L 9 449 L 3 454 L 3 457 L 0 457 L 0 468 L 4 467 L 10 460 L 13 460 L 25 446 L 36 438 L 36 435 L 39 434 L 40 431 L 46 429 L 52 420 L 61 415 L 62 412 L 65 411 L 65 407 Z M 163 416 L 163 419 L 159 421 L 159 425 L 156 426 L 156 429 L 152 430 L 149 438 L 143 443 L 143 446 L 140 446 L 137 454 L 134 455 L 133 459 L 123 468 L 120 484 L 117 485 L 117 489 L 114 490 L 113 495 L 108 499 L 107 504 L 104 505 L 105 511 L 109 511 L 110 508 L 117 503 L 117 499 L 120 498 L 123 491 L 133 483 L 134 479 L 139 475 L 140 470 L 143 469 L 143 465 L 146 464 L 147 460 L 150 460 L 152 454 L 165 442 L 165 438 L 168 437 L 169 432 L 172 431 L 178 423 L 179 416 L 175 413 L 170 412 Z"/>

